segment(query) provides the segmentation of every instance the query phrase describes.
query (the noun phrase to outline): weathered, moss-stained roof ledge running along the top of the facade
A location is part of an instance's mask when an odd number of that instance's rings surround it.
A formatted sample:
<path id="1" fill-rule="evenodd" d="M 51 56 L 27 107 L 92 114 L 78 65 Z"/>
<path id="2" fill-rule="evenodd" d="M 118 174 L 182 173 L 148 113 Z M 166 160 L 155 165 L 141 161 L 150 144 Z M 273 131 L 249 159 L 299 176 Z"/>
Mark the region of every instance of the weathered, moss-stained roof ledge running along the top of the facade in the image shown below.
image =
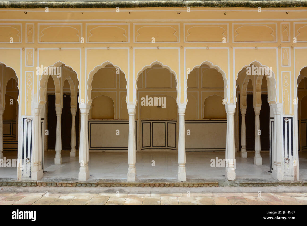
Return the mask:
<path id="1" fill-rule="evenodd" d="M 141 1 L 100 1 L 100 0 L 10 0 L 1 1 L 0 8 L 137 8 L 137 7 L 262 7 L 285 8 L 307 7 L 307 0 L 141 0 Z"/>

